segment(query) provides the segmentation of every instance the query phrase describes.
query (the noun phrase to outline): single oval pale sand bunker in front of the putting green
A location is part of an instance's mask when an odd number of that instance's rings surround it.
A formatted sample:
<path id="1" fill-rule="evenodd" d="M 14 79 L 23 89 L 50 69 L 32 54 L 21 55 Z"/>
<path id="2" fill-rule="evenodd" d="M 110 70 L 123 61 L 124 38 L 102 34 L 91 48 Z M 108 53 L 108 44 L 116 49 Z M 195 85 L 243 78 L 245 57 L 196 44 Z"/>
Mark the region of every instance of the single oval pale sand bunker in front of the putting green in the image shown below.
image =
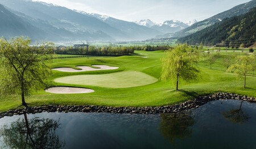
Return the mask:
<path id="1" fill-rule="evenodd" d="M 48 93 L 55 94 L 79 94 L 79 93 L 92 93 L 94 90 L 86 88 L 72 88 L 72 87 L 52 87 L 45 90 Z"/>

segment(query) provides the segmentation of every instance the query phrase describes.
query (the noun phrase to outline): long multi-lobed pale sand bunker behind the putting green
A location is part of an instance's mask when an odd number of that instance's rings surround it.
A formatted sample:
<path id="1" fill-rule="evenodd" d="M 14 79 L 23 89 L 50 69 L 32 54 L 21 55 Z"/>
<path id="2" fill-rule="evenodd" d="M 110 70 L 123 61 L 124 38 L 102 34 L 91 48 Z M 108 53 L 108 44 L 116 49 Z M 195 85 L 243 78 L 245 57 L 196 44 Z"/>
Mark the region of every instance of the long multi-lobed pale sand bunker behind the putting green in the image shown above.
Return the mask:
<path id="1" fill-rule="evenodd" d="M 98 67 L 98 68 L 92 68 L 88 66 L 77 66 L 77 68 L 80 68 L 81 70 L 68 68 L 68 67 L 53 68 L 52 70 L 61 71 L 61 72 L 85 72 L 85 71 L 113 70 L 113 69 L 119 68 L 119 67 L 110 67 L 108 65 L 92 65 L 92 66 Z"/>

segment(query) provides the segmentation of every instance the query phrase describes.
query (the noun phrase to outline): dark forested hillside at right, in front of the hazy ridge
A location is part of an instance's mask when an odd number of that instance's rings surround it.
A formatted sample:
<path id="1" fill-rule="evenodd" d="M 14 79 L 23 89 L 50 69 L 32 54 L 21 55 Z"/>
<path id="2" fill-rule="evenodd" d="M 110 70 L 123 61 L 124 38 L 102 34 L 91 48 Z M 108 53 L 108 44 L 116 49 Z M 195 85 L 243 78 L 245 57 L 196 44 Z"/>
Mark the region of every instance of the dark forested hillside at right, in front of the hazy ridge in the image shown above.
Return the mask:
<path id="1" fill-rule="evenodd" d="M 190 45 L 219 45 L 225 47 L 250 47 L 255 43 L 256 8 L 249 13 L 224 19 L 213 26 L 177 40 Z"/>

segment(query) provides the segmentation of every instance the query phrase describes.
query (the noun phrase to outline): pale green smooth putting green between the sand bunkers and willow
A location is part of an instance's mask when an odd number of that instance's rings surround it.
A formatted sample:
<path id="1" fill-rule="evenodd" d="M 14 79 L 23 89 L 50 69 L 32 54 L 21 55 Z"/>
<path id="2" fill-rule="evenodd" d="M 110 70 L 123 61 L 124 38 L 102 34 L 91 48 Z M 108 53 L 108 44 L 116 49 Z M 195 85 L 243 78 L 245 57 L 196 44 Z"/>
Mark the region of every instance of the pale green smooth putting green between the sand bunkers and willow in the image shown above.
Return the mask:
<path id="1" fill-rule="evenodd" d="M 109 74 L 85 74 L 60 77 L 54 80 L 66 84 L 93 85 L 106 88 L 131 88 L 152 84 L 158 79 L 148 74 L 135 71 L 124 71 Z"/>

